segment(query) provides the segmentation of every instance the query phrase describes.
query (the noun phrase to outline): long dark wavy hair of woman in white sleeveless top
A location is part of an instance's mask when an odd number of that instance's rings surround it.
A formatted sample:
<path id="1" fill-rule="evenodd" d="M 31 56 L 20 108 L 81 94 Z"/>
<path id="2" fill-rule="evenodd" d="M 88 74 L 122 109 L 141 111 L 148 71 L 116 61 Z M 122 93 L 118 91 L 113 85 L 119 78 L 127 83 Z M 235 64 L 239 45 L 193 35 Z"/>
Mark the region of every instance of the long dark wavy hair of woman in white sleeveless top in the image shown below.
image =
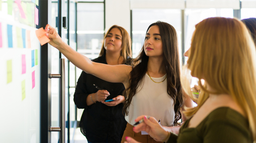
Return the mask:
<path id="1" fill-rule="evenodd" d="M 184 95 L 182 93 L 182 87 L 180 83 L 180 62 L 179 62 L 179 49 L 178 49 L 178 37 L 176 30 L 168 23 L 157 21 L 151 24 L 151 26 L 158 26 L 164 53 L 164 67 L 167 73 L 167 93 L 172 97 L 174 101 L 175 120 L 174 125 L 179 125 L 178 121 L 181 119 L 181 107 L 184 103 Z M 138 85 L 142 83 L 142 79 L 147 72 L 148 56 L 145 54 L 144 45 L 137 58 L 133 59 L 134 67 L 130 72 L 130 86 L 124 90 L 124 96 L 126 101 L 124 102 L 123 112 L 128 115 L 129 106 L 131 104 L 133 96 L 137 92 Z M 172 105 L 170 105 L 172 106 Z"/>

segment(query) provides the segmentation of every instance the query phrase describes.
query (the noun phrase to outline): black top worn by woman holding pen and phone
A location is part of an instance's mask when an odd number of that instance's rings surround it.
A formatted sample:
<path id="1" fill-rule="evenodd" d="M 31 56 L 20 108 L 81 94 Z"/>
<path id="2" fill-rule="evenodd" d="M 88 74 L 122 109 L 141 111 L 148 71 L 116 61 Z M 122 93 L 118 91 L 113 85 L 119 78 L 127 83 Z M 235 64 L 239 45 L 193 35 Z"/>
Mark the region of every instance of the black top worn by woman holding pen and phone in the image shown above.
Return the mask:
<path id="1" fill-rule="evenodd" d="M 107 64 L 105 56 L 92 61 Z M 74 102 L 77 108 L 84 108 L 79 124 L 81 132 L 90 142 L 120 143 L 127 124 L 122 114 L 123 104 L 107 106 L 101 102 L 96 102 L 87 106 L 87 96 L 99 90 L 93 84 L 110 93 L 106 100 L 122 95 L 123 90 L 125 90 L 123 83 L 108 82 L 82 71 L 74 93 Z"/>

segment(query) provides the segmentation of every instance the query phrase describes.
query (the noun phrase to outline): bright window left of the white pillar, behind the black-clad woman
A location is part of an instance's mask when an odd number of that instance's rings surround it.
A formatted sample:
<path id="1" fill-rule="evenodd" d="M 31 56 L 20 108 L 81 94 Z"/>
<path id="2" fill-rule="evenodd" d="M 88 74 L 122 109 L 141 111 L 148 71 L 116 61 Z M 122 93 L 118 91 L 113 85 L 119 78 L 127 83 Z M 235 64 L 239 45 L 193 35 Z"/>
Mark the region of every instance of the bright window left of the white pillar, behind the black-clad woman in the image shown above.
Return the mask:
<path id="1" fill-rule="evenodd" d="M 104 3 L 77 3 L 77 52 L 99 56 L 104 42 Z"/>

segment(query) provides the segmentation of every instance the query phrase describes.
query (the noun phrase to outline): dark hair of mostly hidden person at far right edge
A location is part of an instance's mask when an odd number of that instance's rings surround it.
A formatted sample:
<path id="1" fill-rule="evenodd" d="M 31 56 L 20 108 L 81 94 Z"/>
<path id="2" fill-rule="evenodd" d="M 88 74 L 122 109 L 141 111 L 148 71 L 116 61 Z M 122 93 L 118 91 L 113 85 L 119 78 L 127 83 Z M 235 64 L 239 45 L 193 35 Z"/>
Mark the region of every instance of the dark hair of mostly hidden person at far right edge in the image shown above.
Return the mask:
<path id="1" fill-rule="evenodd" d="M 256 46 L 256 18 L 248 18 L 241 20 L 252 35 L 253 42 Z"/>

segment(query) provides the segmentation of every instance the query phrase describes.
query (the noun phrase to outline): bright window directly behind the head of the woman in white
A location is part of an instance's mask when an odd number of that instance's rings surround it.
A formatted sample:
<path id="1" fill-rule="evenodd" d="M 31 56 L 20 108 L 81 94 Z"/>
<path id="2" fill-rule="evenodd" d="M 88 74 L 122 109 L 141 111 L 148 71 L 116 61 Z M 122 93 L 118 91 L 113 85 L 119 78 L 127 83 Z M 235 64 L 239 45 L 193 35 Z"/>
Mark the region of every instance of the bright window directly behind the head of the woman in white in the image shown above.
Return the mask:
<path id="1" fill-rule="evenodd" d="M 133 9 L 132 10 L 132 57 L 136 58 L 144 44 L 147 28 L 156 21 L 171 24 L 178 34 L 181 53 L 181 10 L 179 9 Z M 181 60 L 181 54 L 180 54 Z"/>

